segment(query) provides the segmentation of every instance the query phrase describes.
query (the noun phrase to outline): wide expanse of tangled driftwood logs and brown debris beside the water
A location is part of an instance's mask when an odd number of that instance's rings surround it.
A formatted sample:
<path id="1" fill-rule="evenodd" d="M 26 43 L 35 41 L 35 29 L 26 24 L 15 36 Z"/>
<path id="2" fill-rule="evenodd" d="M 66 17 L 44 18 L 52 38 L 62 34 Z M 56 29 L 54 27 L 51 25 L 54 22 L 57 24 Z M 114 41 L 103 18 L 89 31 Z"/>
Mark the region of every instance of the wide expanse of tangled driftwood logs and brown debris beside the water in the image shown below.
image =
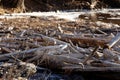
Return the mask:
<path id="1" fill-rule="evenodd" d="M 37 67 L 120 71 L 120 26 L 108 24 L 52 16 L 0 19 L 1 79 L 28 79 Z"/>

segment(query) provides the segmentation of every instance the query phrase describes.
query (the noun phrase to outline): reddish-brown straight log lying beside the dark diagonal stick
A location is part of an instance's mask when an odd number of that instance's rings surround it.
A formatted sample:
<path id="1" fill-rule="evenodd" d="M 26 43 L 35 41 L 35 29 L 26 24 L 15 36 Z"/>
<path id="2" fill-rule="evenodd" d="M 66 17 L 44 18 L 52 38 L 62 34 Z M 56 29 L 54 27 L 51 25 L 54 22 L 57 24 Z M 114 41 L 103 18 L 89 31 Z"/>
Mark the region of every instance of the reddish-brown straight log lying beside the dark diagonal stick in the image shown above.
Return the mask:
<path id="1" fill-rule="evenodd" d="M 59 39 L 67 42 L 71 40 L 74 44 L 93 46 L 93 47 L 95 46 L 104 47 L 110 41 L 109 39 L 80 37 L 73 35 L 61 35 Z"/>

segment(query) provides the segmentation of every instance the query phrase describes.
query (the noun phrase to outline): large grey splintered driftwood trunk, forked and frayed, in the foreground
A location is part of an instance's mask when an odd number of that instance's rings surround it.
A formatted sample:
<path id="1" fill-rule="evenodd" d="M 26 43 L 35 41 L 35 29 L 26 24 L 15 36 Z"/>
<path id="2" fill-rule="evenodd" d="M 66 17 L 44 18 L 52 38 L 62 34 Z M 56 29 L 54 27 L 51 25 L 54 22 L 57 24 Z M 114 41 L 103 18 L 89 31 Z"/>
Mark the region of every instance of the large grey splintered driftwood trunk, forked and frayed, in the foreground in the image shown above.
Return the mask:
<path id="1" fill-rule="evenodd" d="M 21 51 L 21 52 L 14 52 L 14 53 L 0 55 L 0 61 L 9 60 L 13 57 L 16 57 L 17 59 L 33 57 L 27 61 L 28 62 L 31 62 L 31 61 L 36 62 L 39 60 L 40 63 L 52 62 L 56 65 L 59 64 L 58 68 L 65 66 L 65 64 L 77 64 L 77 65 L 81 65 L 81 68 L 84 66 L 82 64 L 81 59 L 77 59 L 77 58 L 70 57 L 70 56 L 59 55 L 62 51 L 61 49 L 63 49 L 61 46 L 47 46 L 47 47 L 42 47 L 42 48 L 25 50 L 25 51 Z M 55 54 L 57 54 L 57 55 L 55 55 Z M 51 64 L 48 63 L 48 65 L 50 66 Z"/>

